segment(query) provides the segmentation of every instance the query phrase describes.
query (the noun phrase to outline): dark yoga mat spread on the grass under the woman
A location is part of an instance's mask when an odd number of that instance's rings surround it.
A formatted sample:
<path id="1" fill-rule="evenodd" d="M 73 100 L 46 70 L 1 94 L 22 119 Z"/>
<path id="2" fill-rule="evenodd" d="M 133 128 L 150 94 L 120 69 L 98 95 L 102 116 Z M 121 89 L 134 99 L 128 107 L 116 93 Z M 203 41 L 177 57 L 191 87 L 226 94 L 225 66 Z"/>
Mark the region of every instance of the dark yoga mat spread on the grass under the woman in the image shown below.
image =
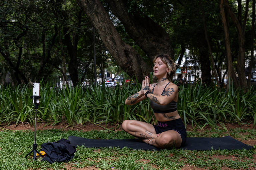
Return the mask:
<path id="1" fill-rule="evenodd" d="M 138 139 L 87 139 L 77 136 L 69 136 L 71 145 L 84 147 L 120 147 L 125 146 L 132 149 L 160 150 L 155 146 L 148 145 Z M 214 150 L 218 149 L 251 149 L 252 146 L 246 145 L 231 136 L 225 137 L 188 137 L 186 145 L 181 147 L 187 150 Z"/>

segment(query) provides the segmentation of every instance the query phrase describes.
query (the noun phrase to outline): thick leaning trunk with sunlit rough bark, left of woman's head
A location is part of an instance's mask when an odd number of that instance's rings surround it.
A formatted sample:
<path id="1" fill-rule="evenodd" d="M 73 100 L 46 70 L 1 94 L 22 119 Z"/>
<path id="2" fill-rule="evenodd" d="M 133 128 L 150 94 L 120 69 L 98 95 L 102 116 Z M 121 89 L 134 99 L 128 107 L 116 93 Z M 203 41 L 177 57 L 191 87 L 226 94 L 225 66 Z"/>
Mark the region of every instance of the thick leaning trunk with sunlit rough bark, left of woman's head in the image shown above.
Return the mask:
<path id="1" fill-rule="evenodd" d="M 118 34 L 107 12 L 99 0 L 77 0 L 84 8 L 108 51 L 129 76 L 137 76 L 142 82 L 145 75 L 150 74 L 150 67 L 145 63 L 136 50 L 126 44 Z"/>

